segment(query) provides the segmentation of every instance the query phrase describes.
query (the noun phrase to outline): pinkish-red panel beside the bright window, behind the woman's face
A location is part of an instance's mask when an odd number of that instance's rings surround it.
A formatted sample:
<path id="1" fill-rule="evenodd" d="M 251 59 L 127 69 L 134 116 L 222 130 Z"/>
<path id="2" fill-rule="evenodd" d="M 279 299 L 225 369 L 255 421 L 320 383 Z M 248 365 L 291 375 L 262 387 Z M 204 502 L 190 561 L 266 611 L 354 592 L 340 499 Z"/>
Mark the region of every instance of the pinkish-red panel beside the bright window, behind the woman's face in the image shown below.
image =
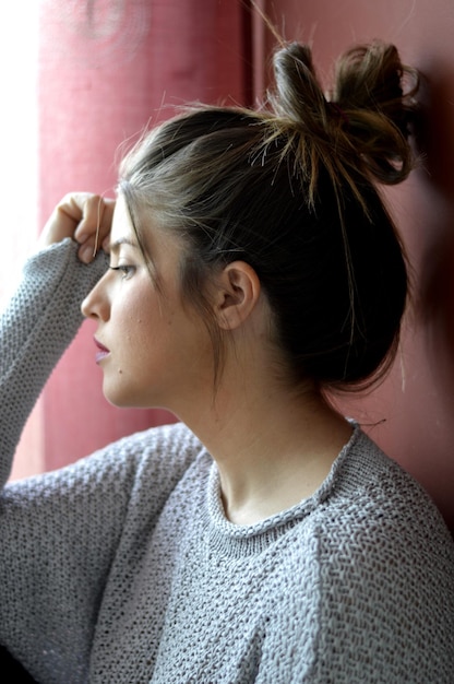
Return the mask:
<path id="1" fill-rule="evenodd" d="M 187 102 L 244 102 L 240 0 L 41 0 L 39 216 L 71 190 L 112 194 L 121 143 Z M 41 400 L 46 469 L 172 420 L 119 410 L 100 390 L 86 321 Z"/>

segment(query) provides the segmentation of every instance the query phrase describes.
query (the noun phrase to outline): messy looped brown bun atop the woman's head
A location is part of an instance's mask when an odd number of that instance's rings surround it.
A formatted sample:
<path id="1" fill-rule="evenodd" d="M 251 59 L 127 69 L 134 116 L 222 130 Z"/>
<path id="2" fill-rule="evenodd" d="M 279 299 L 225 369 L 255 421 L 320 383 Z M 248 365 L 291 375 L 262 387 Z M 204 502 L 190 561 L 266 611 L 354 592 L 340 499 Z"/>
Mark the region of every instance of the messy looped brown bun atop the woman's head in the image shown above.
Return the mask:
<path id="1" fill-rule="evenodd" d="M 290 43 L 274 56 L 276 93 L 270 103 L 282 123 L 306 133 L 306 143 L 333 146 L 339 162 L 360 166 L 393 185 L 414 167 L 408 144 L 416 70 L 405 67 L 394 45 L 374 40 L 337 60 L 328 101 L 318 81 L 311 50 Z"/>

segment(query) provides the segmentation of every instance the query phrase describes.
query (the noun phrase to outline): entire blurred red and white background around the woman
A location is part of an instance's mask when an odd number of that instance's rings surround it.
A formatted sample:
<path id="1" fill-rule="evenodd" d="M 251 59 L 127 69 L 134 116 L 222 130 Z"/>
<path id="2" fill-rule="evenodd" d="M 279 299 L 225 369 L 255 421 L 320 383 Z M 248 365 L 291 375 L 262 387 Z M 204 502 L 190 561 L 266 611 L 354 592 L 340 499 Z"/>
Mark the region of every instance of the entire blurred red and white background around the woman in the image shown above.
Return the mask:
<path id="1" fill-rule="evenodd" d="M 422 73 L 419 169 L 386 191 L 410 263 L 398 357 L 373 392 L 336 398 L 410 471 L 454 530 L 454 4 L 452 0 L 259 0 L 288 40 L 310 43 L 330 85 L 353 43 L 394 43 Z M 0 296 L 53 205 L 112 194 L 118 151 L 188 102 L 247 104 L 268 83 L 274 38 L 249 0 L 23 0 L 1 10 Z M 118 410 L 100 391 L 84 323 L 24 431 L 12 477 L 71 462 L 172 421 Z"/>

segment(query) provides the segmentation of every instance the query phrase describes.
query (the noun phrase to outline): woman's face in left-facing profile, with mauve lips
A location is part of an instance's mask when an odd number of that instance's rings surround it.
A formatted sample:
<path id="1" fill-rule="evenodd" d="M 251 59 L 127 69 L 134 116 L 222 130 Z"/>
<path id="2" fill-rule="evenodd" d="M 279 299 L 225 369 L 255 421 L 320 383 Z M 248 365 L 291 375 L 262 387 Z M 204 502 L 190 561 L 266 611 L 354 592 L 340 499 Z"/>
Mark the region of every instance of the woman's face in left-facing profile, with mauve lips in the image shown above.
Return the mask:
<path id="1" fill-rule="evenodd" d="M 108 401 L 163 406 L 180 415 L 186 402 L 213 390 L 212 346 L 200 317 L 181 302 L 179 240 L 153 224 L 145 237 L 148 266 L 120 197 L 110 269 L 83 302 L 82 312 L 97 322 L 96 362 Z"/>

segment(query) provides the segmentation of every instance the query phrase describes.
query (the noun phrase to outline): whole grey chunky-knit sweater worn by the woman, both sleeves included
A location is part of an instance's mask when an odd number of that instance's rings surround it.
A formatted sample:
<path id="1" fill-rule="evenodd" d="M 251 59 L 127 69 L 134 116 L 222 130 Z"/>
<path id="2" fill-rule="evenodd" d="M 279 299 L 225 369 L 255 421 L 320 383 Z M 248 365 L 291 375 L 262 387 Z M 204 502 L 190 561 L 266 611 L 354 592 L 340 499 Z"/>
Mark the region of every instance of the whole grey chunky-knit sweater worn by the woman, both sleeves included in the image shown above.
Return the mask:
<path id="1" fill-rule="evenodd" d="M 48 248 L 1 318 L 3 483 L 103 270 Z M 312 496 L 251 526 L 189 428 L 158 427 L 4 486 L 0 642 L 43 684 L 452 684 L 454 547 L 359 426 Z"/>

